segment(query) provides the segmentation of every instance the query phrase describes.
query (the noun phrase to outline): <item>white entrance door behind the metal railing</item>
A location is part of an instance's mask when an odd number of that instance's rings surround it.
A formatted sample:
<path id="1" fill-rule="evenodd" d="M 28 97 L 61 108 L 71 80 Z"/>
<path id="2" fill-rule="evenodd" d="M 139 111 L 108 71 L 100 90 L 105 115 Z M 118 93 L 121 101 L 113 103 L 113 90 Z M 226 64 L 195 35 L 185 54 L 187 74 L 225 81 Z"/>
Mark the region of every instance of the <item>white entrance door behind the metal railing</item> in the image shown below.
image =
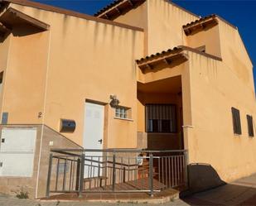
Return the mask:
<path id="1" fill-rule="evenodd" d="M 104 106 L 85 103 L 85 149 L 103 149 L 104 141 Z M 102 152 L 85 152 L 85 178 L 102 175 Z"/>

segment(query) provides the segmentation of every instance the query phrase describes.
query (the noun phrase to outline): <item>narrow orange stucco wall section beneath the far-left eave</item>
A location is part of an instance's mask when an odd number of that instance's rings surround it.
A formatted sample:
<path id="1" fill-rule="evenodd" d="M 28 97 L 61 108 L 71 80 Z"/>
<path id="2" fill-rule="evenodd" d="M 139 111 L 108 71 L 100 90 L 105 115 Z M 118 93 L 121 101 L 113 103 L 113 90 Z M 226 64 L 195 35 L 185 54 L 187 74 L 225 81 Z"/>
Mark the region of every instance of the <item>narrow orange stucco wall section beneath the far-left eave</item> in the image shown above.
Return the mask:
<path id="1" fill-rule="evenodd" d="M 44 104 L 48 39 L 49 32 L 38 33 L 28 26 L 16 26 L 8 36 L 2 102 L 2 112 L 9 113 L 8 123 L 41 122 L 38 113 Z"/>

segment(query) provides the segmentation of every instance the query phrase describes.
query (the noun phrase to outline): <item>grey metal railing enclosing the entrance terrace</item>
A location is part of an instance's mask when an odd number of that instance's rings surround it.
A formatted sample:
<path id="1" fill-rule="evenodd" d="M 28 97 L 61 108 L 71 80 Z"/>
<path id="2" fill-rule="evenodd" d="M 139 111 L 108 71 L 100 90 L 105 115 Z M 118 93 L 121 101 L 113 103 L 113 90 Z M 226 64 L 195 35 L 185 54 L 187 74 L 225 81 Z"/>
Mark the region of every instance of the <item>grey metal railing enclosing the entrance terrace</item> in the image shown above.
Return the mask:
<path id="1" fill-rule="evenodd" d="M 186 186 L 187 151 L 53 149 L 46 197 L 53 193 L 147 192 Z"/>

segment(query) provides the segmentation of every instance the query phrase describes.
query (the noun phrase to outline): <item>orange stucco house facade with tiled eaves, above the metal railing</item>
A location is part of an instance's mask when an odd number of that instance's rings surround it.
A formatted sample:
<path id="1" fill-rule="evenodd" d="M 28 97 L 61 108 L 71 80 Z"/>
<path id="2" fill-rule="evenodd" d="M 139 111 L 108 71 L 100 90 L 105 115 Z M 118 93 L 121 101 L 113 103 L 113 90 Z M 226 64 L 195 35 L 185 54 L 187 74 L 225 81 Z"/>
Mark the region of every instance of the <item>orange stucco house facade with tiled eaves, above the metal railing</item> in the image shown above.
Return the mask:
<path id="1" fill-rule="evenodd" d="M 253 65 L 237 27 L 166 0 L 95 17 L 0 6 L 0 191 L 45 196 L 51 148 L 186 149 L 226 182 L 256 171 Z"/>

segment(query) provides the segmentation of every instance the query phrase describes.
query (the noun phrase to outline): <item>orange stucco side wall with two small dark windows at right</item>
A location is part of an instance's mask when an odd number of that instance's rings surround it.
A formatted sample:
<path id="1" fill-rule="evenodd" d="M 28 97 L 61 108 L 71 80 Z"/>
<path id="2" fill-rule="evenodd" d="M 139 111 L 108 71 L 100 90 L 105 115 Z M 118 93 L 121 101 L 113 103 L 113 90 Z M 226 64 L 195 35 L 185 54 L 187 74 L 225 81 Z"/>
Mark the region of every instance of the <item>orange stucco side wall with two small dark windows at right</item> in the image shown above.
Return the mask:
<path id="1" fill-rule="evenodd" d="M 256 141 L 255 137 L 248 135 L 246 120 L 246 114 L 256 117 L 253 88 L 244 84 L 243 78 L 235 74 L 227 63 L 191 52 L 189 55 L 193 71 L 193 127 L 188 128 L 190 163 L 212 165 L 225 181 L 254 173 Z M 231 107 L 240 111 L 241 136 L 233 133 Z"/>

